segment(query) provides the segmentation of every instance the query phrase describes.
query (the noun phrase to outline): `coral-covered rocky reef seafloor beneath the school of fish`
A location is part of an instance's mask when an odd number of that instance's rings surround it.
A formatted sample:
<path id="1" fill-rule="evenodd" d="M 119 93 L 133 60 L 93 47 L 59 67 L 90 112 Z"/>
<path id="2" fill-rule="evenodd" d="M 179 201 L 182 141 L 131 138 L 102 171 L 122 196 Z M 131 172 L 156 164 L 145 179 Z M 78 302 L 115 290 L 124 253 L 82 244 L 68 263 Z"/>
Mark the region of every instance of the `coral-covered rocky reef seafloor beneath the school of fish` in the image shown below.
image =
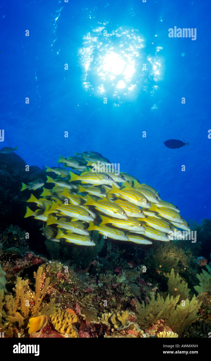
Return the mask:
<path id="1" fill-rule="evenodd" d="M 44 169 L 26 172 L 25 165 L 15 153 L 0 154 L 4 337 L 208 337 L 211 269 L 197 259 L 210 262 L 210 219 L 189 220 L 195 243 L 131 245 L 96 231 L 95 247 L 52 242 L 41 234 L 41 221 L 24 218 L 31 192 L 20 192 L 21 182 L 46 178 Z"/>

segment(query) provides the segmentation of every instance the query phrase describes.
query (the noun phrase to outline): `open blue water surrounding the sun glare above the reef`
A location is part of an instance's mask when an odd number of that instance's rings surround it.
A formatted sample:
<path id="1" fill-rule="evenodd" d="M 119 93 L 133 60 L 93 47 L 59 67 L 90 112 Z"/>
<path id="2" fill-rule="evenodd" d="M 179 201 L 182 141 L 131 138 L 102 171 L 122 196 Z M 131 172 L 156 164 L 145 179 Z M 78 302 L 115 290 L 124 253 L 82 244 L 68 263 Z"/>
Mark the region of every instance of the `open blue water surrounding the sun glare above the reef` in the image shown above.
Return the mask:
<path id="1" fill-rule="evenodd" d="M 209 12 L 208 1 L 5 1 L 0 7 L 2 147 L 17 145 L 27 164 L 40 167 L 56 166 L 59 154 L 100 152 L 156 188 L 183 218 L 211 218 Z M 132 96 L 120 90 L 118 104 L 109 88 L 107 104 L 104 93 L 85 90 L 79 49 L 99 22 L 108 22 L 109 30 L 136 29 L 145 55 L 163 48 L 162 76 L 153 94 L 153 79 L 146 90 L 139 81 Z M 174 26 L 197 28 L 197 39 L 169 38 Z M 91 67 L 89 76 L 96 87 Z M 171 138 L 190 141 L 190 147 L 168 149 L 163 142 Z"/>

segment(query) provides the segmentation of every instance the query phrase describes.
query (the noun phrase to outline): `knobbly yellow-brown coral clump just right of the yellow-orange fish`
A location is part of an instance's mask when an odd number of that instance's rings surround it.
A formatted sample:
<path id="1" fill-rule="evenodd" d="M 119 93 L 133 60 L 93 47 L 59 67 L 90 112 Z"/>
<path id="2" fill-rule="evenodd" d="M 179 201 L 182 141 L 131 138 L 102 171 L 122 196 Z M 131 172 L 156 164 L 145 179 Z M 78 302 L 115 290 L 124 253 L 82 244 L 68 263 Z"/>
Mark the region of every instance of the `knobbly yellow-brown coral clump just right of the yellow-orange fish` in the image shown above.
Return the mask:
<path id="1" fill-rule="evenodd" d="M 54 329 L 61 334 L 68 334 L 70 338 L 77 338 L 77 333 L 73 329 L 72 323 L 77 322 L 75 312 L 62 311 L 60 308 L 50 316 L 50 322 Z"/>

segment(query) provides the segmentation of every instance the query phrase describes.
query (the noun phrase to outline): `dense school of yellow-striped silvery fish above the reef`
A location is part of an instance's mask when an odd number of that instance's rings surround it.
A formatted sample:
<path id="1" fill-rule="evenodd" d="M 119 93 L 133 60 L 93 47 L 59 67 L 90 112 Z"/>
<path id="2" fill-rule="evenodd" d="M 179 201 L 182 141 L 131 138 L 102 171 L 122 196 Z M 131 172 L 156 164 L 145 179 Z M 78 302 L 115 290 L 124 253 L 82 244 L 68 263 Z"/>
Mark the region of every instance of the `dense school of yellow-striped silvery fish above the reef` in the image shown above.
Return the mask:
<path id="1" fill-rule="evenodd" d="M 22 183 L 21 189 L 43 188 L 39 199 L 31 194 L 27 202 L 37 209 L 27 207 L 25 217 L 43 221 L 41 230 L 47 239 L 94 246 L 92 231 L 98 231 L 105 239 L 152 244 L 168 242 L 175 229 L 190 231 L 177 206 L 161 200 L 154 188 L 132 175 L 118 174 L 100 153 L 60 156 L 58 163 L 63 168 L 46 167 L 53 174 L 47 175 L 50 188 L 36 179 Z"/>

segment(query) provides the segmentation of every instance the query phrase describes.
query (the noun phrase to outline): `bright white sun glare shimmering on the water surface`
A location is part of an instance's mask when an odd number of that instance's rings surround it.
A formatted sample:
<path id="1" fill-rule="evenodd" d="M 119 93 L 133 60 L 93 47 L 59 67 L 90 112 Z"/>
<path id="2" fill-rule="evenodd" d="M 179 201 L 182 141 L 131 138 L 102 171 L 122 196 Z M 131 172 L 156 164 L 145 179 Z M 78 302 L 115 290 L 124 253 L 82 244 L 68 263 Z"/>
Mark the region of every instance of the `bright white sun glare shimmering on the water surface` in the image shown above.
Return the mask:
<path id="1" fill-rule="evenodd" d="M 147 54 L 143 36 L 137 29 L 119 27 L 107 32 L 108 23 L 99 24 L 83 37 L 79 56 L 84 68 L 84 88 L 97 95 L 130 100 L 140 91 L 157 89 L 163 77 L 161 46 Z M 156 35 L 155 35 L 156 36 Z"/>

